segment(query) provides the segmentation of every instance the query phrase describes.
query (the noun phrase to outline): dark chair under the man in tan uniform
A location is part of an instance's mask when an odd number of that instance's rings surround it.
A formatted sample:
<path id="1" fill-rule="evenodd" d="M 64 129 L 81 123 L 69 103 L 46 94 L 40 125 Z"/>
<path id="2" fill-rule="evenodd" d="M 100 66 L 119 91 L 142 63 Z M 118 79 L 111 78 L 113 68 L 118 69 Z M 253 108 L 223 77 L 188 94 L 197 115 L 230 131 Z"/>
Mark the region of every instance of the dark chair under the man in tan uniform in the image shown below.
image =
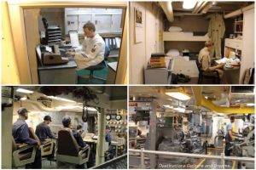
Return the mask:
<path id="1" fill-rule="evenodd" d="M 196 66 L 197 69 L 199 71 L 199 75 L 198 75 L 198 84 L 201 84 L 203 82 L 204 79 L 210 79 L 212 80 L 213 84 L 219 84 L 220 79 L 219 79 L 219 75 L 218 75 L 218 71 L 203 71 L 201 68 L 201 64 L 199 63 L 199 60 L 196 59 Z"/>

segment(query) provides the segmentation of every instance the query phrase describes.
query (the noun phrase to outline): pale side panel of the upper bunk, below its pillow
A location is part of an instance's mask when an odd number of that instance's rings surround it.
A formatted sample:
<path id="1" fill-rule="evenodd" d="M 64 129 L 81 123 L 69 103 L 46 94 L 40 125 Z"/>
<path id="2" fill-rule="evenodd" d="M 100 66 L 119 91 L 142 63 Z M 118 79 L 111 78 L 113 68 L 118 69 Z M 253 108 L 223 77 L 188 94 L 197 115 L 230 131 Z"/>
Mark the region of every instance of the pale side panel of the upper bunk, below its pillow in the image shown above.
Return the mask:
<path id="1" fill-rule="evenodd" d="M 205 36 L 193 36 L 187 32 L 163 32 L 164 41 L 177 41 L 177 42 L 206 42 L 209 39 L 207 35 Z"/>

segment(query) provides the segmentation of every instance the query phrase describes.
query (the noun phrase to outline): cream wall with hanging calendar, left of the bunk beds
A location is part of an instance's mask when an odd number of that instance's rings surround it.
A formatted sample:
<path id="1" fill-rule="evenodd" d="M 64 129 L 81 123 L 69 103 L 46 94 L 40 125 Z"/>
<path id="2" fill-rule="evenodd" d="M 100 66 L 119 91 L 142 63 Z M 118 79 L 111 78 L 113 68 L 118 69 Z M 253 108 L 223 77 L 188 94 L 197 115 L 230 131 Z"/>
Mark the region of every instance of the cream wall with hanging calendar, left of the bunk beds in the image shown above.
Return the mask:
<path id="1" fill-rule="evenodd" d="M 135 43 L 134 8 L 143 11 L 143 42 Z M 151 53 L 164 52 L 159 36 L 163 28 L 161 9 L 155 3 L 130 3 L 130 83 L 143 83 L 143 70 Z"/>

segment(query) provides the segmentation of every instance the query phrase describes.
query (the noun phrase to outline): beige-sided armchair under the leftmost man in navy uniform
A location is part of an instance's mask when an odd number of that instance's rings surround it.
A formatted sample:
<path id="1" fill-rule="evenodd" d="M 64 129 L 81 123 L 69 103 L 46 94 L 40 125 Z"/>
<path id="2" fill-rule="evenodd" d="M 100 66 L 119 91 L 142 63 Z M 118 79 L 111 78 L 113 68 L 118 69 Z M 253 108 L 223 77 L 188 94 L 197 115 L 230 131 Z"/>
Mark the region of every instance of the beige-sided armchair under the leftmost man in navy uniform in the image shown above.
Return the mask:
<path id="1" fill-rule="evenodd" d="M 21 167 L 35 161 L 37 145 L 16 144 L 12 138 L 13 166 Z"/>

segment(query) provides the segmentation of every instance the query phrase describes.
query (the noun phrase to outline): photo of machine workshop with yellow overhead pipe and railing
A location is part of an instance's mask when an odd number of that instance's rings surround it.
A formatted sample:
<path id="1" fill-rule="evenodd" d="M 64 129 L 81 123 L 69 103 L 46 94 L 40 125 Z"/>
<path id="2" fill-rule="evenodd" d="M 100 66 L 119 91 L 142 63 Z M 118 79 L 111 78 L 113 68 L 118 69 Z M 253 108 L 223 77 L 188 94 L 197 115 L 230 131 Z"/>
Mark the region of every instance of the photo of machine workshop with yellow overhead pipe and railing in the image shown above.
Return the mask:
<path id="1" fill-rule="evenodd" d="M 254 169 L 254 86 L 130 86 L 129 168 Z"/>

